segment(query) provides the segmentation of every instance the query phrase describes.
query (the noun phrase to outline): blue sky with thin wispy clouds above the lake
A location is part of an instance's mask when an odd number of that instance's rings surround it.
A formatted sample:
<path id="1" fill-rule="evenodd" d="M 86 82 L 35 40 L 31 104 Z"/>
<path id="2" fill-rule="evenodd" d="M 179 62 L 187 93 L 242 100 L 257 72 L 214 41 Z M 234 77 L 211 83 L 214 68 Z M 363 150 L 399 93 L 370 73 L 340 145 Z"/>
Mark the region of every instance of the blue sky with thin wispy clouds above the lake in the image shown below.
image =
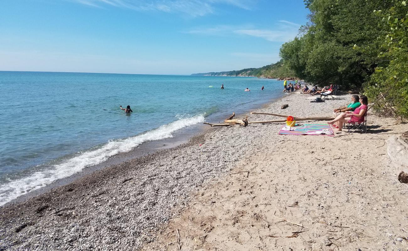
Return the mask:
<path id="1" fill-rule="evenodd" d="M 0 71 L 262 67 L 307 14 L 303 0 L 0 0 Z"/>

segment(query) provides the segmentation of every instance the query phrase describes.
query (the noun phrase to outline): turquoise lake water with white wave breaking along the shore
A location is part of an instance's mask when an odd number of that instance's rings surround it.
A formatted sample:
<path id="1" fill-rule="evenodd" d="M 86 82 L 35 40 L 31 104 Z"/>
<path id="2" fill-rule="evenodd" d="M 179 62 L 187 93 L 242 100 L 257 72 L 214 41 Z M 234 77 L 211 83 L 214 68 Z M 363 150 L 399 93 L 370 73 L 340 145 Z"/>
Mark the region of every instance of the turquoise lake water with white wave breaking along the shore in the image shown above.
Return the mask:
<path id="1" fill-rule="evenodd" d="M 10 71 L 0 71 L 0 93 L 0 205 L 143 142 L 283 95 L 282 81 L 249 77 Z"/>

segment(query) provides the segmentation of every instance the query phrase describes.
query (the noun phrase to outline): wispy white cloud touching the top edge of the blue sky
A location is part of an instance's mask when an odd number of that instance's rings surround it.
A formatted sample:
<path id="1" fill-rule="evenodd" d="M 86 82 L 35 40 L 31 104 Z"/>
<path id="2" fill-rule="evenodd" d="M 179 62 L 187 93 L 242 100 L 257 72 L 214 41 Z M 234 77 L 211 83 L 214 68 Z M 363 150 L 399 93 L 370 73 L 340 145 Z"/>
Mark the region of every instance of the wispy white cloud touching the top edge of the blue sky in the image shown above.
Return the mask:
<path id="1" fill-rule="evenodd" d="M 205 16 L 213 13 L 215 5 L 228 4 L 241 9 L 251 9 L 250 0 L 71 0 L 92 7 L 113 6 L 138 11 L 163 11 Z M 252 1 L 253 2 L 253 1 Z"/>

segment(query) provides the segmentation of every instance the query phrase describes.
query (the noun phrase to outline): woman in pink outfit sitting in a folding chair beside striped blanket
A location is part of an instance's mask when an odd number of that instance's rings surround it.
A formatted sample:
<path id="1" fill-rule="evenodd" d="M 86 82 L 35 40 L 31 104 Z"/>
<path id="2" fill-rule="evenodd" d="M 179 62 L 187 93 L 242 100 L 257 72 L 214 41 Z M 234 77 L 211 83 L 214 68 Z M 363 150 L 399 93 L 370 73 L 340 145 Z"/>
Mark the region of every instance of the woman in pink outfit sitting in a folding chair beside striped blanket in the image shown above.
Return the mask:
<path id="1" fill-rule="evenodd" d="M 330 120 L 327 123 L 332 125 L 333 127 L 338 128 L 337 131 L 341 131 L 343 123 L 348 124 L 348 122 L 364 122 L 364 116 L 366 115 L 366 111 L 368 109 L 368 98 L 364 95 L 361 95 L 359 102 L 361 103 L 361 105 L 354 111 L 342 112 L 334 120 Z"/>

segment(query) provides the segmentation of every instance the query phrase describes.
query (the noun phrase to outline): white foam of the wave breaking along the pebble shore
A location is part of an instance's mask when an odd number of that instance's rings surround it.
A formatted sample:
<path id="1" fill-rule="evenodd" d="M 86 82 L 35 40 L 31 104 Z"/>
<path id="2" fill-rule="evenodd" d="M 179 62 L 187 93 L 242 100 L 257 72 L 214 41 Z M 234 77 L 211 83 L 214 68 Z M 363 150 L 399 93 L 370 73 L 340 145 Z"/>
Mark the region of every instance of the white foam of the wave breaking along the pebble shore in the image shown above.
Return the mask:
<path id="1" fill-rule="evenodd" d="M 113 155 L 131 151 L 134 147 L 137 147 L 143 142 L 171 138 L 173 137 L 171 134 L 172 132 L 200 122 L 204 122 L 203 115 L 189 118 L 180 117 L 179 120 L 162 125 L 161 127 L 146 133 L 123 140 L 111 140 L 98 149 L 84 151 L 46 171 L 39 171 L 28 177 L 2 184 L 0 185 L 0 205 L 15 199 L 20 195 L 28 193 L 29 191 L 51 184 L 55 180 L 77 173 L 85 167 L 99 164 Z"/>

